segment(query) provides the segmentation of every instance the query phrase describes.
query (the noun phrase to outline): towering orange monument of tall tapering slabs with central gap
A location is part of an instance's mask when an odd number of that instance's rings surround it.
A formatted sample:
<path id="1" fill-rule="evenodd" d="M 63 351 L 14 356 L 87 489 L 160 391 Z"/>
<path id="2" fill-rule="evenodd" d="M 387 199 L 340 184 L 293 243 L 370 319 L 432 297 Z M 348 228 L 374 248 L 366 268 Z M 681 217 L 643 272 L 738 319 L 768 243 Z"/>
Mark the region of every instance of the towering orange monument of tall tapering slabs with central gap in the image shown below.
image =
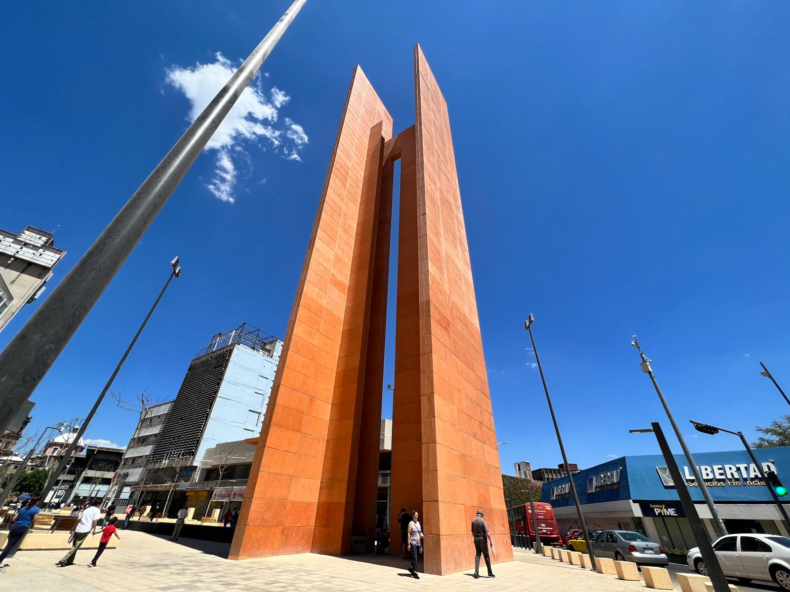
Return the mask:
<path id="1" fill-rule="evenodd" d="M 415 125 L 357 66 L 258 439 L 231 559 L 374 540 L 393 163 L 401 159 L 391 552 L 420 513 L 425 571 L 474 564 L 478 508 L 512 560 L 447 105 L 419 46 Z"/>

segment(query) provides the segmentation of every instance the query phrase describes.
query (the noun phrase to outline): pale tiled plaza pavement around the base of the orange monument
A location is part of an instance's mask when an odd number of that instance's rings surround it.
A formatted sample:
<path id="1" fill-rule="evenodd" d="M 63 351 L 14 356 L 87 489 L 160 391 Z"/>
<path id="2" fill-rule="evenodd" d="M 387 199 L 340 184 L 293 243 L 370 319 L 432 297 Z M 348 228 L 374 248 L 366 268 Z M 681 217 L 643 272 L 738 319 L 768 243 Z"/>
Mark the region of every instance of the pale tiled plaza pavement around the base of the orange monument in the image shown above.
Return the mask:
<path id="1" fill-rule="evenodd" d="M 623 582 L 577 566 L 517 549 L 517 560 L 495 565 L 496 579 L 472 579 L 471 571 L 446 575 L 408 576 L 407 562 L 389 557 L 360 559 L 291 555 L 230 561 L 227 544 L 167 538 L 126 531 L 118 549 L 107 550 L 98 568 L 88 568 L 92 551 L 77 554 L 78 564 L 55 567 L 62 551 L 22 551 L 0 570 L 0 590 L 58 592 L 254 592 L 254 590 L 526 590 L 527 592 L 643 592 L 641 583 Z M 470 549 L 471 553 L 471 549 Z M 481 568 L 483 573 L 485 568 Z"/>

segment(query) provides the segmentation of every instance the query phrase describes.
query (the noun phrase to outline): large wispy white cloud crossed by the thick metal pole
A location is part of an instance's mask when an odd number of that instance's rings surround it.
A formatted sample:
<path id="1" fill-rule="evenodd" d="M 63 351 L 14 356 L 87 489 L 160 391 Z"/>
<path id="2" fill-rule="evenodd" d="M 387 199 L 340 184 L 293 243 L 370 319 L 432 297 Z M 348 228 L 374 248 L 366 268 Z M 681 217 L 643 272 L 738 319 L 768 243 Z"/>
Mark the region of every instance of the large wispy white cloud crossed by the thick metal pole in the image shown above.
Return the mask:
<path id="1" fill-rule="evenodd" d="M 194 121 L 228 82 L 236 66 L 237 64 L 217 53 L 213 63 L 198 63 L 188 68 L 172 66 L 166 70 L 165 81 L 189 99 L 189 119 Z M 268 73 L 263 74 L 264 77 L 269 77 Z M 299 152 L 307 144 L 307 134 L 298 123 L 286 118 L 284 126 L 277 124 L 278 110 L 291 97 L 273 87 L 269 91 L 272 97 L 269 101 L 261 86 L 261 80 L 260 76 L 255 77 L 243 90 L 205 146 L 206 151 L 213 150 L 216 153 L 214 174 L 206 189 L 218 200 L 230 204 L 235 200 L 234 189 L 239 178 L 236 159 L 246 161 L 251 172 L 247 144 L 254 144 L 264 151 L 273 148 L 283 158 L 297 161 L 302 160 Z"/>

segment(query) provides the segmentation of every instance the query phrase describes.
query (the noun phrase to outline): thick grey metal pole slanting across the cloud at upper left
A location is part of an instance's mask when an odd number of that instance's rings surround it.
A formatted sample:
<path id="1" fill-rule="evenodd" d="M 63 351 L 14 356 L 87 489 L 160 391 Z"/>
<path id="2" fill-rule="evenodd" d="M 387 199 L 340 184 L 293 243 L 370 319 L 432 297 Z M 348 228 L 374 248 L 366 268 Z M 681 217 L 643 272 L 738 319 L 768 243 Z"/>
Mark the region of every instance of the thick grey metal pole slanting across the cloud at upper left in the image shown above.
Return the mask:
<path id="1" fill-rule="evenodd" d="M 0 354 L 0 433 L 30 398 L 307 0 L 295 0 Z"/>

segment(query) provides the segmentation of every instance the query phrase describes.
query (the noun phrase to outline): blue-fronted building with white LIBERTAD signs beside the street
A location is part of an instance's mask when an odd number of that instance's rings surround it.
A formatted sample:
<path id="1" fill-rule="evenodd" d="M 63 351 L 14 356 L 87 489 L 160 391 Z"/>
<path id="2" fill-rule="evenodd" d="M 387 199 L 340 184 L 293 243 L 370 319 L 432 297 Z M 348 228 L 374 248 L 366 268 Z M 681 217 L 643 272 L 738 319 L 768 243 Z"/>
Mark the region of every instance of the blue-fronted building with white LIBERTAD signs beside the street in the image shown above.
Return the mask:
<path id="1" fill-rule="evenodd" d="M 790 484 L 790 447 L 763 448 L 754 455 L 760 469 L 773 470 Z M 698 514 L 713 535 L 711 515 L 686 457 L 675 461 L 687 480 Z M 758 478 L 746 451 L 694 454 L 702 478 L 729 532 L 788 534 L 766 481 Z M 589 528 L 637 530 L 668 548 L 694 546 L 675 483 L 661 455 L 622 456 L 571 476 Z M 790 498 L 790 496 L 788 496 Z M 577 512 L 567 477 L 548 481 L 541 500 L 555 508 L 558 523 L 577 527 Z M 790 499 L 787 500 L 790 504 Z M 788 508 L 790 510 L 790 508 Z"/>

